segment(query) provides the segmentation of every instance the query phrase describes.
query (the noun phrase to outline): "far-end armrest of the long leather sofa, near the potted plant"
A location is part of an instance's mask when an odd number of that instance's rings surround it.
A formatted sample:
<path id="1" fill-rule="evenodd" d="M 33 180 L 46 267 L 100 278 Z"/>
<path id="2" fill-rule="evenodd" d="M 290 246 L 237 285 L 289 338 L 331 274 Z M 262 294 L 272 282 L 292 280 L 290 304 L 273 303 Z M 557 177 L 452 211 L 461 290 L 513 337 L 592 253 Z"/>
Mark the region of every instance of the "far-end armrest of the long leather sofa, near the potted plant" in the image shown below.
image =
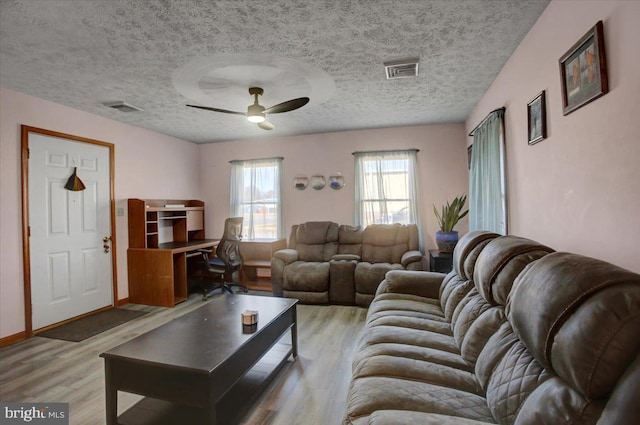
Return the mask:
<path id="1" fill-rule="evenodd" d="M 378 287 L 377 294 L 393 292 L 437 300 L 440 298 L 440 286 L 445 276 L 444 273 L 391 270 Z"/>

